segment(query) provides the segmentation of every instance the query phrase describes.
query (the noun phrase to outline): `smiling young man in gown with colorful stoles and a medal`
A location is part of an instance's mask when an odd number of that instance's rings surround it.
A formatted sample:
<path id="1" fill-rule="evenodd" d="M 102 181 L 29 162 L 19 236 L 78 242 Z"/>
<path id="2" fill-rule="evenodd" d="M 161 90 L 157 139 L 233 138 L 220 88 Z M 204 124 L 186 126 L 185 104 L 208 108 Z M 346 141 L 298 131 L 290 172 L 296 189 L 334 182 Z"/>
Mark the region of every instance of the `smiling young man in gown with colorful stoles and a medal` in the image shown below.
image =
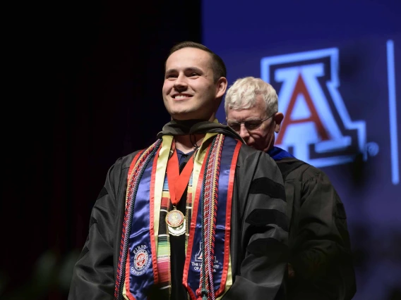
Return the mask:
<path id="1" fill-rule="evenodd" d="M 109 169 L 69 299 L 284 299 L 280 170 L 215 119 L 227 88 L 219 56 L 183 42 L 165 69 L 172 121 Z"/>

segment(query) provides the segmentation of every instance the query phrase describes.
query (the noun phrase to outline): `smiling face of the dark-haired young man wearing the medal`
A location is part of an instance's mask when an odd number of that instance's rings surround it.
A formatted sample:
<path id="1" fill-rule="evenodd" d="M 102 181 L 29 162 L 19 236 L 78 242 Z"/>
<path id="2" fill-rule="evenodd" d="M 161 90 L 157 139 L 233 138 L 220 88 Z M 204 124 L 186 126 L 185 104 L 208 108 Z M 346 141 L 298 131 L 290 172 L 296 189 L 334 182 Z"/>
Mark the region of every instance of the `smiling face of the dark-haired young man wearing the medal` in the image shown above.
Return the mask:
<path id="1" fill-rule="evenodd" d="M 227 80 L 221 77 L 215 82 L 211 59 L 196 48 L 179 49 L 167 58 L 162 93 L 174 120 L 215 119 Z"/>

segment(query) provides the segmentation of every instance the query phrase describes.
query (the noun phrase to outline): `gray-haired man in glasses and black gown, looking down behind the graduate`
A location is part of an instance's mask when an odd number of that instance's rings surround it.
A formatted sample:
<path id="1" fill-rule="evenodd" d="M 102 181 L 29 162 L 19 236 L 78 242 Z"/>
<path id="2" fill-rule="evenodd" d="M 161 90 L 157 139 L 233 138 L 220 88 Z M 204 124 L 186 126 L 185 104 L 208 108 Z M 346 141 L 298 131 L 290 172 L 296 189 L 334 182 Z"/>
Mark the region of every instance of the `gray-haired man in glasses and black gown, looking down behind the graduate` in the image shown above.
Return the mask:
<path id="1" fill-rule="evenodd" d="M 345 209 L 328 177 L 274 146 L 284 115 L 275 89 L 240 78 L 225 97 L 227 123 L 246 144 L 277 162 L 289 218 L 288 299 L 348 300 L 356 292 Z"/>

